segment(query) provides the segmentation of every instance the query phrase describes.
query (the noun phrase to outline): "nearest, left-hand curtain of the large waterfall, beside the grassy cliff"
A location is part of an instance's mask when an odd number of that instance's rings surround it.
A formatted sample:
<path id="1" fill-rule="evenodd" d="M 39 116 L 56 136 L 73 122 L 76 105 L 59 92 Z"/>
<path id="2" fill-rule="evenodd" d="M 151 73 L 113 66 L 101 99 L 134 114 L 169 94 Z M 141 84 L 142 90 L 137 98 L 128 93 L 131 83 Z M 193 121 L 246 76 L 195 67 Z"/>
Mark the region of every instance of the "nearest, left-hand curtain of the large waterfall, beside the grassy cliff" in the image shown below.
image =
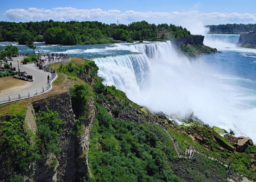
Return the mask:
<path id="1" fill-rule="evenodd" d="M 94 59 L 104 84 L 115 85 L 124 92 L 139 91 L 149 79 L 151 67 L 145 54 L 128 54 Z"/>

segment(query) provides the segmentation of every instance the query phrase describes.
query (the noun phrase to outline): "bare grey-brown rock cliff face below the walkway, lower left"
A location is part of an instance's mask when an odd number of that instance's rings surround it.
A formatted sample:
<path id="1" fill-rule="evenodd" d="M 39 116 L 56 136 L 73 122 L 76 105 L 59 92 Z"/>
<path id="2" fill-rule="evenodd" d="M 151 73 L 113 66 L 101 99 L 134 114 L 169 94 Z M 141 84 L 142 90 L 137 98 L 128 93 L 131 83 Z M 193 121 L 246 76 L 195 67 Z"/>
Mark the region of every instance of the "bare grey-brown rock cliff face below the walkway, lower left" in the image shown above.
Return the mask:
<path id="1" fill-rule="evenodd" d="M 64 121 L 62 134 L 58 142 L 58 147 L 61 148 L 60 156 L 47 154 L 40 161 L 33 163 L 29 171 L 26 172 L 26 182 L 32 181 L 79 181 L 79 178 L 86 176 L 88 172 L 87 152 L 89 149 L 89 137 L 92 124 L 96 115 L 96 108 L 93 104 L 93 99 L 88 104 L 90 114 L 83 121 L 83 134 L 79 137 L 72 135 L 72 130 L 75 125 L 75 115 L 72 110 L 71 95 L 69 92 L 53 95 L 51 97 L 40 99 L 28 105 L 24 129 L 30 129 L 34 133 L 37 131 L 34 114 L 39 110 L 46 109 L 59 112 L 59 118 Z M 8 116 L 4 118 L 8 119 Z M 57 165 L 49 168 L 52 160 L 57 161 Z M 5 169 L 0 169 L 5 171 Z M 3 172 L 3 174 L 7 174 Z M 1 180 L 0 180 L 1 181 Z"/>

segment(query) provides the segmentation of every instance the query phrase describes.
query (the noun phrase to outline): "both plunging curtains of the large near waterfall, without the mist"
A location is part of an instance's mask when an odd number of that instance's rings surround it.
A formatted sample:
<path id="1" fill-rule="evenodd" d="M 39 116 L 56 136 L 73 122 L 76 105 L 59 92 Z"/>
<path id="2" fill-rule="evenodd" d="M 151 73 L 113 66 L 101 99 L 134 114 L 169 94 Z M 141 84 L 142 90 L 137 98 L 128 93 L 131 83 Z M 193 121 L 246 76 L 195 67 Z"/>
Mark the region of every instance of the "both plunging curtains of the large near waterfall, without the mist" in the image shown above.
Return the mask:
<path id="1" fill-rule="evenodd" d="M 134 54 L 96 58 L 94 61 L 104 84 L 115 85 L 129 95 L 145 89 L 151 79 L 154 62 L 169 59 L 171 42 L 139 43 L 130 45 L 128 49 Z"/>

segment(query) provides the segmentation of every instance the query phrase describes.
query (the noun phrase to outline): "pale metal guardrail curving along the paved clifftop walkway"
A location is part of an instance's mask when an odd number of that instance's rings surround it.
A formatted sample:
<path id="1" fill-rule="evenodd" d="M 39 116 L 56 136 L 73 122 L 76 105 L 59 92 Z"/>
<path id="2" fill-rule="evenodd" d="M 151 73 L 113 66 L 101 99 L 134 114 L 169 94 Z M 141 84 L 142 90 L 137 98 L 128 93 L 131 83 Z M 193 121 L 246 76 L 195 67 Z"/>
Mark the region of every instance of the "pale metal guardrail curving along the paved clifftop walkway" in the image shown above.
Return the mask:
<path id="1" fill-rule="evenodd" d="M 56 61 L 56 63 L 68 61 L 69 59 L 71 59 L 71 58 L 63 58 L 61 61 Z M 50 63 L 53 63 L 53 62 L 48 62 L 46 64 L 50 64 Z M 44 65 L 46 65 L 46 64 L 44 64 Z M 49 78 L 49 83 L 47 83 L 43 87 L 33 89 L 30 91 L 23 91 L 23 92 L 19 92 L 19 93 L 13 93 L 13 94 L 9 94 L 9 95 L 0 96 L 0 104 L 16 101 L 16 100 L 20 100 L 20 99 L 26 99 L 29 97 L 33 97 L 35 95 L 39 95 L 46 91 L 49 91 L 52 89 L 52 81 L 55 78 L 57 78 L 57 76 L 58 76 L 57 73 L 53 73 Z"/>

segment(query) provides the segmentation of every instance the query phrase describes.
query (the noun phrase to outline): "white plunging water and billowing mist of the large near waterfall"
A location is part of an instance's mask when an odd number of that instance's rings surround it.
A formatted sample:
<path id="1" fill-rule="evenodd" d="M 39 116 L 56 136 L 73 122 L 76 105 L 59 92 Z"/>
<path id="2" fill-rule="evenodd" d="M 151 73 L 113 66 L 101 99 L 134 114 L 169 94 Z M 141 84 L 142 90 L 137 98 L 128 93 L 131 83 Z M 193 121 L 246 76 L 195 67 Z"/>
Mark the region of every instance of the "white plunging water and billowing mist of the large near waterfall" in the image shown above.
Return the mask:
<path id="1" fill-rule="evenodd" d="M 135 44 L 125 49 L 137 54 L 95 59 L 104 84 L 115 85 L 152 112 L 184 116 L 187 109 L 192 109 L 210 126 L 232 129 L 235 136 L 255 139 L 254 131 L 246 122 L 240 122 L 242 118 L 247 118 L 247 123 L 254 121 L 255 110 L 243 112 L 234 107 L 241 104 L 242 98 L 237 88 L 225 84 L 223 75 L 203 60 L 189 61 L 178 55 L 169 41 Z"/>

